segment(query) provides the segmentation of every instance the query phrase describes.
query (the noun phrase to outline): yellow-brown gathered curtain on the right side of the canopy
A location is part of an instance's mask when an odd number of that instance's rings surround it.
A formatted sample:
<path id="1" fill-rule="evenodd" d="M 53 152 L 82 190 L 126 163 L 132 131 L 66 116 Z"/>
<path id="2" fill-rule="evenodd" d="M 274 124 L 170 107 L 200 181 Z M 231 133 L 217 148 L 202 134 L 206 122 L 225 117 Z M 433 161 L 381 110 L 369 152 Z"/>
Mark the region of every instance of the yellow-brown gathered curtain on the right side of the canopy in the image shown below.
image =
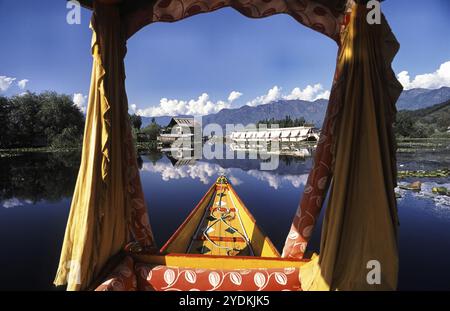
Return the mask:
<path id="1" fill-rule="evenodd" d="M 399 46 L 384 18 L 369 25 L 366 16 L 365 5 L 355 5 L 342 36 L 333 179 L 320 256 L 300 272 L 304 290 L 397 287 L 392 122 L 402 87 L 391 62 Z"/>

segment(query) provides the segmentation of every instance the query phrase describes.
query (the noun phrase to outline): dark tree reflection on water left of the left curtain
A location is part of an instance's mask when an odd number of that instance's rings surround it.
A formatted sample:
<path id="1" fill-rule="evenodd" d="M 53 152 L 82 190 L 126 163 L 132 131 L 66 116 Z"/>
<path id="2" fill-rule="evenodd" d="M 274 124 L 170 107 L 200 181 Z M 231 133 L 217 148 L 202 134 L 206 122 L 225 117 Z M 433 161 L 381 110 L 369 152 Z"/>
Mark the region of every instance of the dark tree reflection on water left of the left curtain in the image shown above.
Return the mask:
<path id="1" fill-rule="evenodd" d="M 71 197 L 77 178 L 80 155 L 76 153 L 36 153 L 0 159 L 0 201 L 15 207 L 41 200 L 58 201 Z"/>

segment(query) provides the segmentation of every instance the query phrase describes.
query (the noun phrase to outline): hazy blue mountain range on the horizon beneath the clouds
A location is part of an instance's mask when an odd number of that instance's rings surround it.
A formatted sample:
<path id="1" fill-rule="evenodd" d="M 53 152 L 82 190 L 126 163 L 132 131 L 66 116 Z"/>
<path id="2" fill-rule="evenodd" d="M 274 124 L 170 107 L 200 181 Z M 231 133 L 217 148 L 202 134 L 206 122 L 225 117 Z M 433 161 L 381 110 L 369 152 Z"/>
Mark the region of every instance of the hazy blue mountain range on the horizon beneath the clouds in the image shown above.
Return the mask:
<path id="1" fill-rule="evenodd" d="M 450 100 L 450 87 L 440 89 L 411 89 L 403 91 L 397 101 L 398 110 L 418 110 L 431 107 Z M 221 111 L 203 116 L 203 124 L 217 123 L 219 125 L 250 124 L 264 119 L 283 119 L 287 115 L 291 118 L 304 117 L 308 123 L 322 126 L 328 101 L 278 100 L 256 107 L 242 106 L 235 109 L 222 109 Z M 172 117 L 155 117 L 156 123 L 166 126 Z M 142 127 L 150 124 L 152 118 L 142 117 Z"/>

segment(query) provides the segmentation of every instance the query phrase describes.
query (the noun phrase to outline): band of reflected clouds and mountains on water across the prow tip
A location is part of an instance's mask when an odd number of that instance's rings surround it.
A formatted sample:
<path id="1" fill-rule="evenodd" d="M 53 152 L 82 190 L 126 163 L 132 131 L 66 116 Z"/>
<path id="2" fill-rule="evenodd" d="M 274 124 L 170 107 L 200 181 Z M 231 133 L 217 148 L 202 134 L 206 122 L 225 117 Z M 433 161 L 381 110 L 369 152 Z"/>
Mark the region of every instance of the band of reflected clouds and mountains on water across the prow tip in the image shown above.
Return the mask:
<path id="1" fill-rule="evenodd" d="M 145 159 L 145 156 L 144 156 Z M 159 174 L 164 181 L 190 178 L 207 185 L 217 176 L 226 175 L 234 185 L 243 181 L 239 174 L 266 182 L 270 187 L 278 189 L 283 183 L 289 183 L 299 188 L 306 183 L 308 168 L 305 161 L 280 161 L 280 166 L 274 171 L 260 171 L 256 160 L 200 160 L 193 165 L 174 166 L 171 161 L 162 159 L 156 163 L 144 162 L 144 172 Z"/>

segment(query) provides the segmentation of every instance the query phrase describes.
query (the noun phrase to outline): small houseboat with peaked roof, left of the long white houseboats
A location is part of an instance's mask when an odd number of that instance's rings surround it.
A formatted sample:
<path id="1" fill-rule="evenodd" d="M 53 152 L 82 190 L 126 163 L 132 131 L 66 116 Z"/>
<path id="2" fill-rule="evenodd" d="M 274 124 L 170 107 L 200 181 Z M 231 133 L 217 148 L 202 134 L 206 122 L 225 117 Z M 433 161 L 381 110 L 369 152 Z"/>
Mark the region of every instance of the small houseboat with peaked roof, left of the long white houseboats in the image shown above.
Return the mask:
<path id="1" fill-rule="evenodd" d="M 172 118 L 167 125 L 164 133 L 158 137 L 159 145 L 166 146 L 175 142 L 181 144 L 190 144 L 194 141 L 194 129 L 197 124 L 194 118 Z"/>

